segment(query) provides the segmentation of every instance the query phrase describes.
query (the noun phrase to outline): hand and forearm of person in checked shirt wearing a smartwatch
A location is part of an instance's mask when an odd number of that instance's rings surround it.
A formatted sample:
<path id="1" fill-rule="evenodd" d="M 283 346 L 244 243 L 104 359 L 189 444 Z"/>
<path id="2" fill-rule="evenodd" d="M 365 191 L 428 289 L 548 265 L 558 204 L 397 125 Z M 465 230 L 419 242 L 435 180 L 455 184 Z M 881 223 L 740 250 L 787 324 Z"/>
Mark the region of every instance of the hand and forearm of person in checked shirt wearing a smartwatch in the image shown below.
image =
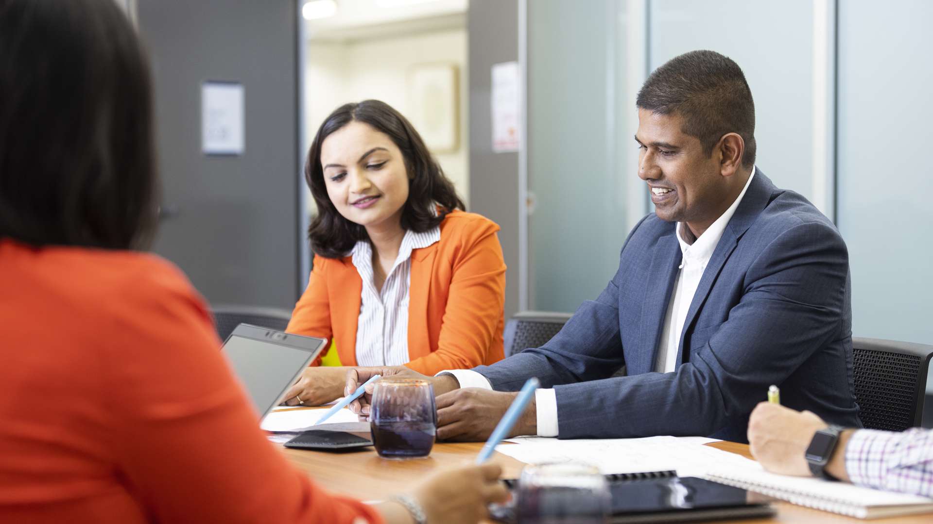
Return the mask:
<path id="1" fill-rule="evenodd" d="M 809 411 L 763 402 L 752 411 L 748 442 L 766 470 L 810 476 L 804 452 L 828 426 Z M 859 486 L 933 497 L 933 430 L 843 430 L 825 472 Z"/>

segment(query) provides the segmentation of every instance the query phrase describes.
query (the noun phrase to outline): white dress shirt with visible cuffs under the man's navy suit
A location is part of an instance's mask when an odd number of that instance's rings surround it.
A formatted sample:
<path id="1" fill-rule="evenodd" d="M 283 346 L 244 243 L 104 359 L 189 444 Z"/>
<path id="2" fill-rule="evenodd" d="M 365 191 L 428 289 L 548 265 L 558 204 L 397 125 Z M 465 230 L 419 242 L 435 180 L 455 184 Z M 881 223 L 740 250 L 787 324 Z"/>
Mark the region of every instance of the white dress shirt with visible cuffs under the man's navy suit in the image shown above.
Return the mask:
<path id="1" fill-rule="evenodd" d="M 713 252 L 716 251 L 716 246 L 719 239 L 722 238 L 722 233 L 726 230 L 726 225 L 729 224 L 732 215 L 735 214 L 735 209 L 739 207 L 739 202 L 745 197 L 745 191 L 748 190 L 748 185 L 751 184 L 754 177 L 755 167 L 752 166 L 752 172 L 748 175 L 745 187 L 742 188 L 738 198 L 692 244 L 685 241 L 683 237 L 682 229 L 687 228 L 687 224 L 677 223 L 676 237 L 677 242 L 680 244 L 682 259 L 675 276 L 674 295 L 671 296 L 671 300 L 667 303 L 667 313 L 664 315 L 664 329 L 661 333 L 658 354 L 654 362 L 654 370 L 659 373 L 675 371 L 677 350 L 680 347 L 680 334 L 683 332 L 684 322 L 687 320 L 690 302 L 693 301 L 693 295 L 696 294 L 700 279 L 703 277 L 703 270 L 706 269 L 706 264 L 712 258 Z M 476 371 L 451 369 L 440 373 L 453 375 L 460 382 L 462 388 L 493 389 L 489 380 Z M 553 389 L 536 390 L 535 404 L 537 410 L 537 435 L 557 436 L 557 394 L 554 393 Z"/>

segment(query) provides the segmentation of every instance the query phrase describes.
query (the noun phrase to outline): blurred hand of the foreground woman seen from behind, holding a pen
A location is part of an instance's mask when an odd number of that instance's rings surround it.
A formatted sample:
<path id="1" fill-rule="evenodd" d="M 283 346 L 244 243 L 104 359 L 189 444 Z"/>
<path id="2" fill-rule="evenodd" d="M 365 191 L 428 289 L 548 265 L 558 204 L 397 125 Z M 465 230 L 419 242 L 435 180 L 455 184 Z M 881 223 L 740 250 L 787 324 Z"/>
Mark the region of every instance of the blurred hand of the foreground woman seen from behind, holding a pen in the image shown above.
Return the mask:
<path id="1" fill-rule="evenodd" d="M 428 477 L 411 497 L 421 504 L 428 522 L 476 524 L 489 516 L 486 504 L 508 499 L 500 475 L 502 468 L 490 463 L 452 469 Z M 411 522 L 408 510 L 398 503 L 382 503 L 379 509 L 389 524 Z"/>

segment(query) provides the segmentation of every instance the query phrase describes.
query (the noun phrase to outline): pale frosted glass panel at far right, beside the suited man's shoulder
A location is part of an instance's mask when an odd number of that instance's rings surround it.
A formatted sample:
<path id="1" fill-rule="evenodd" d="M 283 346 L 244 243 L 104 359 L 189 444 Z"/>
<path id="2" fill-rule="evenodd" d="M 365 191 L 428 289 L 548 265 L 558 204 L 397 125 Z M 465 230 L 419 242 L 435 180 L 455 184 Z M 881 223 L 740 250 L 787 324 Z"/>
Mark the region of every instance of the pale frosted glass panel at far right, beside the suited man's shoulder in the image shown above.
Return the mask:
<path id="1" fill-rule="evenodd" d="M 856 337 L 933 344 L 933 169 L 914 153 L 924 147 L 906 145 L 930 136 L 933 68 L 916 57 L 933 48 L 931 17 L 933 4 L 919 0 L 839 7 L 838 226 L 849 247 Z"/>

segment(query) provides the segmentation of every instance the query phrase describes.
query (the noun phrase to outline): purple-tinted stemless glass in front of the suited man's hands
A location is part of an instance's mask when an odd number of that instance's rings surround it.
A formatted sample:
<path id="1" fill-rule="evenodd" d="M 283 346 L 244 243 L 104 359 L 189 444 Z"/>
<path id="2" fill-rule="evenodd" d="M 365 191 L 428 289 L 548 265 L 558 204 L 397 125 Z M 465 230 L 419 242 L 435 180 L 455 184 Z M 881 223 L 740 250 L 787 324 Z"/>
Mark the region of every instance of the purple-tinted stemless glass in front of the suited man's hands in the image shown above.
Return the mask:
<path id="1" fill-rule="evenodd" d="M 383 459 L 426 457 L 438 431 L 434 388 L 427 380 L 379 379 L 372 392 L 369 427 Z"/>

